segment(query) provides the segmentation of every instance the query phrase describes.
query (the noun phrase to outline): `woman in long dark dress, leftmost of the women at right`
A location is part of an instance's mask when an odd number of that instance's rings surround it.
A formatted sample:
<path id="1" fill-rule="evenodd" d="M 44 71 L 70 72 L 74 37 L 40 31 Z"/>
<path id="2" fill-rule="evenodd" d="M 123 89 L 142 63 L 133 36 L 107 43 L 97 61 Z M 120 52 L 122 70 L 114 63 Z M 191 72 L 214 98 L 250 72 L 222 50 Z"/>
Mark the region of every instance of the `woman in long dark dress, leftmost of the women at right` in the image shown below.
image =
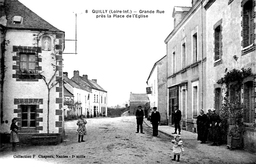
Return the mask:
<path id="1" fill-rule="evenodd" d="M 201 144 L 205 144 L 208 135 L 208 117 L 204 114 L 204 110 L 200 110 L 200 115 L 197 116 L 197 141 L 201 141 Z"/>

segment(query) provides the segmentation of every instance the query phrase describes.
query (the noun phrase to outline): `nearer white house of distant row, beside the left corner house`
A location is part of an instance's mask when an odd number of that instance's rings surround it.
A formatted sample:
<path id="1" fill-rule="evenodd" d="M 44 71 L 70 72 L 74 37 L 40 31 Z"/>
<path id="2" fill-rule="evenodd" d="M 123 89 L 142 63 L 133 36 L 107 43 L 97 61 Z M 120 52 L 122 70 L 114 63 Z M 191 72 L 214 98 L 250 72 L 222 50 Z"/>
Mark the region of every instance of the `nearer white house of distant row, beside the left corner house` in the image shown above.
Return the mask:
<path id="1" fill-rule="evenodd" d="M 76 116 L 79 116 L 81 114 L 84 114 L 87 116 L 87 111 L 91 112 L 90 107 L 90 95 L 92 95 L 92 91 L 89 89 L 84 88 L 82 85 L 77 83 L 76 81 L 73 81 L 68 78 L 68 73 L 63 73 L 63 79 L 65 81 L 64 87 L 73 94 L 73 104 L 71 105 L 70 102 L 64 101 L 64 105 L 67 103 L 69 104 L 68 108 L 70 114 L 76 114 Z M 69 98 L 68 96 L 64 95 L 64 100 Z M 66 107 L 66 106 L 65 106 Z M 91 115 L 92 113 L 90 113 Z"/>

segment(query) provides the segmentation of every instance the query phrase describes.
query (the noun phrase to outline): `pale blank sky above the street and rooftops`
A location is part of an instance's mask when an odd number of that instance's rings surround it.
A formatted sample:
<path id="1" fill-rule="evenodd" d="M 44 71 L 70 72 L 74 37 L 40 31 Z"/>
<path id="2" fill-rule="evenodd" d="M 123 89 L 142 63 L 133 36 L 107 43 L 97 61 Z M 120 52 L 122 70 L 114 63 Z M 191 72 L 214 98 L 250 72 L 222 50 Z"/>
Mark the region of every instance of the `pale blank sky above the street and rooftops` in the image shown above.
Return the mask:
<path id="1" fill-rule="evenodd" d="M 131 92 L 146 94 L 154 64 L 166 55 L 164 40 L 173 30 L 173 7 L 191 7 L 191 0 L 19 1 L 64 31 L 66 40 L 76 38 L 76 46 L 75 41 L 65 41 L 63 53 L 77 54 L 63 54 L 63 72 L 72 78 L 78 70 L 80 76 L 97 79 L 108 92 L 108 106 L 129 102 Z M 114 13 L 124 10 L 129 13 Z"/>

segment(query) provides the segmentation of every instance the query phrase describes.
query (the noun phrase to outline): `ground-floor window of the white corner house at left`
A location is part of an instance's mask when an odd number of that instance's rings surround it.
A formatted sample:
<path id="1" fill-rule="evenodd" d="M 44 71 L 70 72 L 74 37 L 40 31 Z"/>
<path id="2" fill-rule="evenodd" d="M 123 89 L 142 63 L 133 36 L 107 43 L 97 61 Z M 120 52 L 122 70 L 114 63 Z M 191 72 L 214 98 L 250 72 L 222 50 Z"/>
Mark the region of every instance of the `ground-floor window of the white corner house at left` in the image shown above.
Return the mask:
<path id="1" fill-rule="evenodd" d="M 21 128 L 36 128 L 36 105 L 20 105 Z"/>

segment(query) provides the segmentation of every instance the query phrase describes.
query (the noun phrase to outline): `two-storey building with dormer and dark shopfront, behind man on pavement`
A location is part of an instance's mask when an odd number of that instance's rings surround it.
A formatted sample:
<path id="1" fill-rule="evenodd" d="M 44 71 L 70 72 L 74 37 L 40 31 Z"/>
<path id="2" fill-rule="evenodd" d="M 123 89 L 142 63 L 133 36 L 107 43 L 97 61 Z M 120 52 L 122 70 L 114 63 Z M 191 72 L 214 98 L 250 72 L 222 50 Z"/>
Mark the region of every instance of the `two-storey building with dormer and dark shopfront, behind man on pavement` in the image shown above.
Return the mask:
<path id="1" fill-rule="evenodd" d="M 205 108 L 206 95 L 205 10 L 200 1 L 192 3 L 191 8 L 174 7 L 174 29 L 165 39 L 167 118 L 172 125 L 177 105 L 182 113 L 182 129 L 196 132 L 196 117 Z"/>

